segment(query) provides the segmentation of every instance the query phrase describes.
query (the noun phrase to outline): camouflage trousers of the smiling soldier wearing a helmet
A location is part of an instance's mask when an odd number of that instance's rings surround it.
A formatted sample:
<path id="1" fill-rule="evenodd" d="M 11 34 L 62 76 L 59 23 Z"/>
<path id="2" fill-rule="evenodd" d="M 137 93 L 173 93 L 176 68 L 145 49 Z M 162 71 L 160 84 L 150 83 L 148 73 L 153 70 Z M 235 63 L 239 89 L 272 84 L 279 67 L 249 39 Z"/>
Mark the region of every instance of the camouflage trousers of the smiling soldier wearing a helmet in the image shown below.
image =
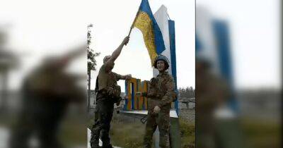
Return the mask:
<path id="1" fill-rule="evenodd" d="M 159 147 L 169 148 L 170 109 L 161 109 L 158 114 L 149 111 L 147 115 L 146 133 L 144 135 L 144 148 L 151 148 L 152 138 L 158 126 Z"/>

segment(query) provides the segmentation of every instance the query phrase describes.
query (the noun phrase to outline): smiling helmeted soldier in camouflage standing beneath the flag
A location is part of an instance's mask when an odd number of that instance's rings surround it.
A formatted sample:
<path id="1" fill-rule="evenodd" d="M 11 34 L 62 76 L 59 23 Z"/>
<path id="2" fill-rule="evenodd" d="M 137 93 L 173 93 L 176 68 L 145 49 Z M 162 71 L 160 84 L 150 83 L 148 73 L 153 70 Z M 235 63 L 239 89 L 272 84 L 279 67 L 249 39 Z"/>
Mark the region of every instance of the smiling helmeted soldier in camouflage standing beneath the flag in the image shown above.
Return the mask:
<path id="1" fill-rule="evenodd" d="M 149 99 L 144 147 L 151 147 L 152 137 L 158 126 L 160 133 L 159 146 L 168 148 L 170 147 L 170 109 L 171 103 L 176 99 L 175 85 L 172 75 L 166 71 L 169 68 L 166 56 L 158 55 L 154 61 L 154 68 L 159 71 L 159 74 L 149 82 L 148 92 L 142 94 Z"/>

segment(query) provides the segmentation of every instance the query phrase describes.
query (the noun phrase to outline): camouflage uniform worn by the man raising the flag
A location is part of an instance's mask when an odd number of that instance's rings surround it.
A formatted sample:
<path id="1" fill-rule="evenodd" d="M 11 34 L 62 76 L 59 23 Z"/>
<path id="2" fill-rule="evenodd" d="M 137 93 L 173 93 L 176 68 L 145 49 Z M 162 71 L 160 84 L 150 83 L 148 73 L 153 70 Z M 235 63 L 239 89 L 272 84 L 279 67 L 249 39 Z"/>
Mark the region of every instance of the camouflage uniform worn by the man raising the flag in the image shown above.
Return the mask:
<path id="1" fill-rule="evenodd" d="M 114 63 L 112 63 L 112 66 L 114 66 Z M 103 147 L 112 147 L 110 144 L 109 130 L 113 116 L 114 104 L 117 103 L 117 100 L 112 98 L 112 94 L 120 94 L 115 87 L 119 87 L 117 85 L 117 81 L 121 78 L 122 75 L 118 75 L 112 71 L 110 73 L 106 73 L 105 64 L 101 66 L 99 70 L 99 91 L 96 97 L 98 120 L 91 129 L 91 147 L 98 147 L 100 132 Z"/>

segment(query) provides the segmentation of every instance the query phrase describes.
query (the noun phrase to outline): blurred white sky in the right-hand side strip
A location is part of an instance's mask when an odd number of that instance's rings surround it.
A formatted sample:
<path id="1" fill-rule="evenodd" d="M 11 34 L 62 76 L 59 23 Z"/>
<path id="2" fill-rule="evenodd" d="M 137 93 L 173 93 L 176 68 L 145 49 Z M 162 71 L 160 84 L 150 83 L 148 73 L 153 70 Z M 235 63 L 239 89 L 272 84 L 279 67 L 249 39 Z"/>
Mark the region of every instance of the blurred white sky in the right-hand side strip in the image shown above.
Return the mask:
<path id="1" fill-rule="evenodd" d="M 226 20 L 236 88 L 281 87 L 279 0 L 197 0 Z"/>

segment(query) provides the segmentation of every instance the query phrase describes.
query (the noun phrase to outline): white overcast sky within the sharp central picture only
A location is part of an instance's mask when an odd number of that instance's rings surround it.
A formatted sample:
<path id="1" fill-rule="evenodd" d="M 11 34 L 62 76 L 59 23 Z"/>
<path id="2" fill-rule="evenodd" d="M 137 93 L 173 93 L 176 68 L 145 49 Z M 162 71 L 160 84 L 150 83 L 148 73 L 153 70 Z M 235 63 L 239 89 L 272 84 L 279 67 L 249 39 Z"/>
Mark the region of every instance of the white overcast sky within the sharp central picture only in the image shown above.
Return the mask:
<path id="1" fill-rule="evenodd" d="M 140 2 L 99 1 L 93 4 L 93 49 L 101 53 L 98 67 L 101 66 L 103 57 L 112 54 L 127 36 Z M 175 20 L 177 84 L 178 87 L 195 87 L 195 1 L 152 0 L 149 4 L 153 13 L 163 4 L 168 8 L 170 18 Z M 149 54 L 137 28 L 132 30 L 129 44 L 115 61 L 113 71 L 123 75 L 131 73 L 132 77 L 141 80 L 152 78 Z M 96 75 L 97 73 L 93 73 L 93 78 Z M 125 85 L 124 82 L 119 83 Z"/>

